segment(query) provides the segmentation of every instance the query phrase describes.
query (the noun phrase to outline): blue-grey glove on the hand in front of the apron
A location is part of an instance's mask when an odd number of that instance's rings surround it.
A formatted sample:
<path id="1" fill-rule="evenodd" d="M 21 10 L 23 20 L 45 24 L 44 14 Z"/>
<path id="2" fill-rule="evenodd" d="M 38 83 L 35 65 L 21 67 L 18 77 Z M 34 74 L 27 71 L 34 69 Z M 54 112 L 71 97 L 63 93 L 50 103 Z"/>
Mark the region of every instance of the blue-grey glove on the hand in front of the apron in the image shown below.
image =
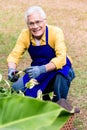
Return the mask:
<path id="1" fill-rule="evenodd" d="M 46 72 L 45 65 L 42 66 L 31 66 L 24 70 L 25 73 L 28 73 L 30 78 L 37 78 L 40 74 Z"/>

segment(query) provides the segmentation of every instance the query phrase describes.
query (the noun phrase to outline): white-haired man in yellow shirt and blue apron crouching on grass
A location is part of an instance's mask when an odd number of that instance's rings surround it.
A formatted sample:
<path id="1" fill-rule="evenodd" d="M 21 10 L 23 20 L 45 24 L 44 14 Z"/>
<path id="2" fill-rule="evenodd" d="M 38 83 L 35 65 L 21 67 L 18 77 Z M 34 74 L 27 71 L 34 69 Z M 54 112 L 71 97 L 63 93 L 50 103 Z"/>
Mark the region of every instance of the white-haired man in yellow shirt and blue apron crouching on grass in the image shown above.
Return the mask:
<path id="1" fill-rule="evenodd" d="M 21 90 L 26 96 L 36 98 L 42 91 L 43 100 L 50 100 L 49 93 L 54 92 L 53 101 L 67 99 L 70 83 L 75 77 L 72 63 L 67 55 L 64 35 L 60 28 L 46 23 L 46 14 L 39 6 L 30 7 L 25 13 L 27 29 L 22 30 L 17 43 L 7 58 L 8 78 L 14 82 L 15 91 Z M 31 65 L 23 77 L 17 77 L 17 65 L 23 53 L 28 51 Z M 26 88 L 30 79 L 39 84 L 32 89 Z"/>

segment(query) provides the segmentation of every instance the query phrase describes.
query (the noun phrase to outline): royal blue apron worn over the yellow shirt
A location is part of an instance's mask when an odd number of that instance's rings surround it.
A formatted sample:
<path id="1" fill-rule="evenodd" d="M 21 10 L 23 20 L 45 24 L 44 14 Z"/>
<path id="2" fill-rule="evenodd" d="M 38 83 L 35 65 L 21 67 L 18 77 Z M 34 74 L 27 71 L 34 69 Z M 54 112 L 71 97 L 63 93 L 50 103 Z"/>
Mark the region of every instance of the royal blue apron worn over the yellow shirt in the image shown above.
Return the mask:
<path id="1" fill-rule="evenodd" d="M 33 46 L 32 43 L 30 42 L 28 52 L 32 59 L 31 66 L 45 65 L 49 63 L 50 60 L 56 56 L 54 49 L 51 48 L 50 45 L 48 44 L 48 27 L 46 27 L 46 45 Z M 62 69 L 47 72 L 38 76 L 36 80 L 39 82 L 39 85 L 35 85 L 32 89 L 27 88 L 25 91 L 25 95 L 31 97 L 37 97 L 38 90 L 40 89 L 43 92 L 48 83 L 54 78 L 54 76 L 56 76 L 57 73 L 61 73 L 62 75 L 67 77 L 70 67 L 71 63 L 69 59 L 66 57 L 66 65 L 63 66 Z M 28 74 L 25 74 L 23 77 L 24 85 L 27 82 L 29 82 L 29 80 L 30 78 Z"/>

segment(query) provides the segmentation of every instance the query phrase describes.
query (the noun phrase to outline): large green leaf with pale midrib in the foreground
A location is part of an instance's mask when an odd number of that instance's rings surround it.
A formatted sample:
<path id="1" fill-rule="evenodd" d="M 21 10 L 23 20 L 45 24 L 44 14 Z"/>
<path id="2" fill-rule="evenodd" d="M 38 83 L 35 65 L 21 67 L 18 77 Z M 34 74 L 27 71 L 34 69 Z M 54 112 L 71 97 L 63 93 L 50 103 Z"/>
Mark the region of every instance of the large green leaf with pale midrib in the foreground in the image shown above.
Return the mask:
<path id="1" fill-rule="evenodd" d="M 70 115 L 48 101 L 21 95 L 0 98 L 0 130 L 60 130 Z"/>

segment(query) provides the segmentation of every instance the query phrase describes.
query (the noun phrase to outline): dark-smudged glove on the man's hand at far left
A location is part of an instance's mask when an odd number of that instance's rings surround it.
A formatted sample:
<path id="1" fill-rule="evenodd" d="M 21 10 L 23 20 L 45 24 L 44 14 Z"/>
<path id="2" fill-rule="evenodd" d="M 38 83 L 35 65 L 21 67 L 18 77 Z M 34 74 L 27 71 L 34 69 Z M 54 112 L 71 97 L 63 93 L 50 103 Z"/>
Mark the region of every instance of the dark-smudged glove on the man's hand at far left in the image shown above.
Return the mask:
<path id="1" fill-rule="evenodd" d="M 8 70 L 8 80 L 10 80 L 11 82 L 16 82 L 19 78 L 19 75 L 17 75 L 18 71 L 13 69 L 13 68 L 9 68 Z"/>

